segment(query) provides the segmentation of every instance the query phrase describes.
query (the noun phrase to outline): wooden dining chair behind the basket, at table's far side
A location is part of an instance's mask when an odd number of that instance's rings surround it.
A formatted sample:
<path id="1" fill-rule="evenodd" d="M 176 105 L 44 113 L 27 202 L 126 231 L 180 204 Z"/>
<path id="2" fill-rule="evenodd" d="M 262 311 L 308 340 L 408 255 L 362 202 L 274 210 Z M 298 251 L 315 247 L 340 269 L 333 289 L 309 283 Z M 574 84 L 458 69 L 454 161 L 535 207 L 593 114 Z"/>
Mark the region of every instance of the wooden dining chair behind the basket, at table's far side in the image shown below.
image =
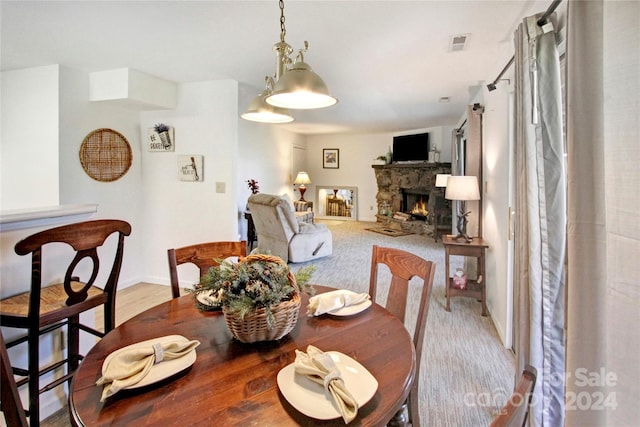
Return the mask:
<path id="1" fill-rule="evenodd" d="M 169 258 L 169 277 L 171 280 L 171 295 L 180 296 L 180 281 L 178 280 L 178 265 L 191 263 L 198 267 L 202 277 L 211 267 L 220 265 L 217 260 L 231 256 L 247 256 L 247 242 L 208 242 L 184 246 L 167 250 Z"/>

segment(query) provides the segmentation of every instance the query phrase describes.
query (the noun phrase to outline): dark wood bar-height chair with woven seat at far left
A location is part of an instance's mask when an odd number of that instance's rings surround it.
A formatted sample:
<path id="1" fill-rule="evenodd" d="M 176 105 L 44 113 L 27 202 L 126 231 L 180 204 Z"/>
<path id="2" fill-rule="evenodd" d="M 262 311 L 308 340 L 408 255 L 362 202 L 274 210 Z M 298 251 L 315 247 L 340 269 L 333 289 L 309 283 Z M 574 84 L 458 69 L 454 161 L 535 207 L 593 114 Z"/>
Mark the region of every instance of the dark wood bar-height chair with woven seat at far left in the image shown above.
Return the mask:
<path id="1" fill-rule="evenodd" d="M 31 286 L 28 292 L 0 301 L 0 324 L 3 327 L 26 329 L 27 335 L 7 341 L 7 348 L 27 343 L 27 369 L 13 366 L 13 373 L 23 377 L 18 387 L 29 387 L 29 425 L 40 424 L 40 393 L 70 381 L 83 356 L 80 354 L 80 330 L 103 337 L 115 326 L 116 287 L 122 267 L 124 238 L 131 234 L 131 226 L 120 220 L 94 220 L 44 230 L 19 241 L 15 246 L 18 255 L 31 254 Z M 107 238 L 117 235 L 113 258 L 98 248 Z M 73 259 L 65 267 L 59 260 L 66 244 L 73 250 Z M 111 246 L 109 246 L 111 247 Z M 46 249 L 46 250 L 45 250 Z M 59 252 L 55 252 L 59 250 Z M 47 257 L 43 257 L 46 252 Z M 49 258 L 50 256 L 55 257 Z M 59 255 L 59 256 L 55 256 Z M 43 258 L 51 260 L 45 268 Z M 55 261 L 55 262 L 54 262 Z M 110 268 L 109 268 L 110 267 Z M 65 270 L 66 268 L 66 270 Z M 46 284 L 42 271 L 59 271 L 62 283 Z M 86 280 L 83 280 L 86 279 Z M 46 279 L 45 279 L 46 280 Z M 80 323 L 80 313 L 103 306 L 104 332 Z M 67 354 L 62 360 L 41 367 L 39 361 L 40 335 L 60 328 L 67 328 Z M 67 367 L 67 373 L 40 388 L 40 376 Z"/>

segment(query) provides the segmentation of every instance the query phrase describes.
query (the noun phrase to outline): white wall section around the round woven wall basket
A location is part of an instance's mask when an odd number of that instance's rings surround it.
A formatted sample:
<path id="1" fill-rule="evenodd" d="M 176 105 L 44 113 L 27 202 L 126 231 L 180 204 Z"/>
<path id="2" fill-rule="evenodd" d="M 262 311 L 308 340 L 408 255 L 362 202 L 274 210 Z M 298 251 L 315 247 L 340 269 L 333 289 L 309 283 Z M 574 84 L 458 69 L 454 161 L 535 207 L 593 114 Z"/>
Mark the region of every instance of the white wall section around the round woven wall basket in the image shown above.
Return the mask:
<path id="1" fill-rule="evenodd" d="M 144 235 L 140 232 L 142 169 L 140 162 L 139 113 L 105 102 L 89 102 L 89 75 L 60 67 L 60 204 L 95 203 L 94 218 L 116 218 L 131 224 L 120 273 L 120 289 L 140 281 Z M 120 132 L 132 151 L 131 168 L 116 181 L 100 182 L 87 175 L 79 160 L 80 145 L 93 130 Z M 124 203 L 123 203 L 124 202 Z"/>

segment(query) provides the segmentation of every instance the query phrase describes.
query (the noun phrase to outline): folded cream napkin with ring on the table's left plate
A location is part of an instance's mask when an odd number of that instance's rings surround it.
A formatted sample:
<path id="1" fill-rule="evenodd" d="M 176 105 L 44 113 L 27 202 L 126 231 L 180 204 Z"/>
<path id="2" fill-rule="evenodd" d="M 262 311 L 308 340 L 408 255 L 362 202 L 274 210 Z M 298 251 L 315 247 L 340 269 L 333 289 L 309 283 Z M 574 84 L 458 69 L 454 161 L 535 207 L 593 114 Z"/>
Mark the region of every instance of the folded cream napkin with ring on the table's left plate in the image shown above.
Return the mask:
<path id="1" fill-rule="evenodd" d="M 151 371 L 154 365 L 163 360 L 173 360 L 186 356 L 200 345 L 200 341 L 188 341 L 184 337 L 175 341 L 163 340 L 149 342 L 147 345 L 136 346 L 119 351 L 114 357 L 107 357 L 102 364 L 102 376 L 96 385 L 104 385 L 102 390 L 103 402 L 120 390 L 138 384 Z"/>

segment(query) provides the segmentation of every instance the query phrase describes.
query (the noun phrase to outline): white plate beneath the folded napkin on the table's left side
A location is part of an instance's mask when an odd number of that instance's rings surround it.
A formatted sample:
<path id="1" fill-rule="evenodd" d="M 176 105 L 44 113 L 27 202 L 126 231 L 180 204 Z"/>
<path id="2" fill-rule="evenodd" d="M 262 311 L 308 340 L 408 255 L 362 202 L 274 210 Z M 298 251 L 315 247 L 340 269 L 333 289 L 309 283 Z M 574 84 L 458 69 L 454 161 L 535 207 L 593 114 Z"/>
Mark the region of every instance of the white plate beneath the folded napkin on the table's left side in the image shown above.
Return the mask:
<path id="1" fill-rule="evenodd" d="M 104 362 L 102 362 L 102 365 L 104 366 L 113 357 L 117 356 L 119 353 L 121 353 L 121 352 L 123 352 L 125 350 L 129 350 L 129 349 L 137 348 L 137 347 L 144 347 L 144 346 L 151 347 L 151 346 L 153 346 L 153 344 L 155 344 L 157 342 L 159 342 L 159 343 L 169 343 L 169 342 L 185 342 L 185 343 L 188 343 L 189 340 L 186 339 L 185 337 L 183 337 L 182 335 L 167 335 L 167 336 L 164 336 L 164 337 L 154 338 L 152 340 L 141 341 L 139 343 L 131 344 L 131 345 L 128 345 L 126 347 L 122 347 L 121 349 L 118 349 L 118 350 L 112 352 L 111 354 L 109 354 L 104 359 Z M 145 387 L 145 386 L 148 386 L 150 384 L 156 383 L 158 381 L 162 381 L 164 379 L 169 378 L 172 375 L 177 374 L 178 372 L 182 372 L 183 370 L 187 369 L 189 366 L 193 365 L 193 363 L 195 361 L 196 361 L 196 350 L 195 349 L 191 350 L 189 353 L 187 353 L 184 356 L 179 357 L 177 359 L 163 360 L 162 362 L 160 362 L 160 363 L 158 363 L 156 365 L 153 365 L 151 367 L 151 369 L 149 370 L 149 373 L 142 380 L 140 380 L 139 383 L 131 385 L 131 386 L 123 387 L 123 389 L 135 389 L 135 388 Z"/>

